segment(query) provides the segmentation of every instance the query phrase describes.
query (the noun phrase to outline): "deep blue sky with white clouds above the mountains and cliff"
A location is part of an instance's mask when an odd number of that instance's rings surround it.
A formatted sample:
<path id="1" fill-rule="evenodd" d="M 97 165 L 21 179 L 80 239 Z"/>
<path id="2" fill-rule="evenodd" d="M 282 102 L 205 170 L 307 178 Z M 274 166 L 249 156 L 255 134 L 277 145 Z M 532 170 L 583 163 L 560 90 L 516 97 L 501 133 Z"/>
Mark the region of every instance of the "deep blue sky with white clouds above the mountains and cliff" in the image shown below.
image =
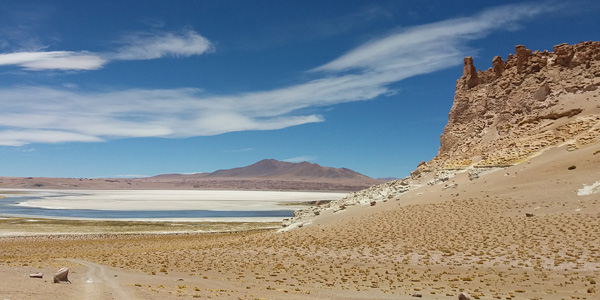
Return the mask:
<path id="1" fill-rule="evenodd" d="M 2 1 L 0 175 L 210 172 L 264 158 L 403 177 L 462 59 L 600 38 L 600 3 Z"/>

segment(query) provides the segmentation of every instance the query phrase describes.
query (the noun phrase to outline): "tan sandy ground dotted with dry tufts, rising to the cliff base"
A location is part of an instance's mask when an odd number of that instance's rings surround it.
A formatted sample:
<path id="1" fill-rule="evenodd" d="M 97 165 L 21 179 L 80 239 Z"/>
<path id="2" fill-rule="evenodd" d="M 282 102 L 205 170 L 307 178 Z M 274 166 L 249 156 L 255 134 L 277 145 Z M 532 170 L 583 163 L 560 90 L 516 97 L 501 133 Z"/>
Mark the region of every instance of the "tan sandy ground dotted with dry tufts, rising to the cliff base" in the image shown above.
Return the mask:
<path id="1" fill-rule="evenodd" d="M 0 298 L 599 299 L 599 180 L 597 143 L 283 233 L 4 237 Z"/>

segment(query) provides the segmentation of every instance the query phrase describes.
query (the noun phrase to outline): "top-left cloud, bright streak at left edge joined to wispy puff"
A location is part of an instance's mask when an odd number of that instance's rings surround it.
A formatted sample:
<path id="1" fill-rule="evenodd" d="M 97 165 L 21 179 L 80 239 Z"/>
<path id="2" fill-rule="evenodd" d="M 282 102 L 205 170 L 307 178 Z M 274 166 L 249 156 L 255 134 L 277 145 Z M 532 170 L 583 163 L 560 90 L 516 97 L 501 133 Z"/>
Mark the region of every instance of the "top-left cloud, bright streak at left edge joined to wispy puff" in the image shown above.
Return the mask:
<path id="1" fill-rule="evenodd" d="M 97 70 L 113 60 L 148 60 L 166 56 L 192 56 L 214 50 L 212 43 L 193 30 L 138 32 L 119 40 L 116 51 L 30 51 L 0 53 L 0 65 L 26 70 Z"/>

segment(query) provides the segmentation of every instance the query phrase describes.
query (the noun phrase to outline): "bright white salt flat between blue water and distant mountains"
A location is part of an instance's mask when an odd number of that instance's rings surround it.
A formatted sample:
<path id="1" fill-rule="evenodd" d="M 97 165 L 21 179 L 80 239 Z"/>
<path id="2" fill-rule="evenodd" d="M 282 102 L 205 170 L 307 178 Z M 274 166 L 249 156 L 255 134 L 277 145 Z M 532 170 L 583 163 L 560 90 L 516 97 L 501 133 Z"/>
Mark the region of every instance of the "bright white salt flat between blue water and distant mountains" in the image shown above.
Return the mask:
<path id="1" fill-rule="evenodd" d="M 21 190 L 22 196 L 40 197 L 16 204 L 46 209 L 93 209 L 114 211 L 290 210 L 281 204 L 335 200 L 345 193 L 211 190 Z"/>

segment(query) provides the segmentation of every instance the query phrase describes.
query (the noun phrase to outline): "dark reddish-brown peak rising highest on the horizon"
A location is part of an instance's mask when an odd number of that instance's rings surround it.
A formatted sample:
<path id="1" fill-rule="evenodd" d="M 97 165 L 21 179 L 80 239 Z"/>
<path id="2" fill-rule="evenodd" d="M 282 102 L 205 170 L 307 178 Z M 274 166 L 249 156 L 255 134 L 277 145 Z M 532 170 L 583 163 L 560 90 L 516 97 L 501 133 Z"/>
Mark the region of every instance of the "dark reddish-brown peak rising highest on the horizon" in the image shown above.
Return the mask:
<path id="1" fill-rule="evenodd" d="M 207 177 L 372 180 L 368 176 L 346 168 L 323 167 L 309 162 L 290 163 L 275 159 L 264 159 L 241 168 L 218 170 L 208 174 Z"/>

